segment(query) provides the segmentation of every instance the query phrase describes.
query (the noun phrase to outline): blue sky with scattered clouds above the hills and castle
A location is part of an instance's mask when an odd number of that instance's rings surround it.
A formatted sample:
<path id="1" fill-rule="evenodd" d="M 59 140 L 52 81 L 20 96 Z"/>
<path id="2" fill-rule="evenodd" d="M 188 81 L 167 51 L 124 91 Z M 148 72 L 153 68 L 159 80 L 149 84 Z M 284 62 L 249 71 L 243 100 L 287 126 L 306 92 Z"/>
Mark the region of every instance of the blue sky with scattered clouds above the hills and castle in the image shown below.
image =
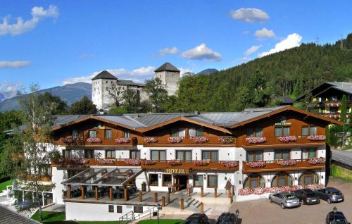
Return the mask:
<path id="1" fill-rule="evenodd" d="M 0 93 L 89 81 L 101 70 L 143 82 L 236 66 L 352 32 L 351 1 L 13 1 L 0 3 Z M 21 18 L 22 21 L 18 20 Z"/>

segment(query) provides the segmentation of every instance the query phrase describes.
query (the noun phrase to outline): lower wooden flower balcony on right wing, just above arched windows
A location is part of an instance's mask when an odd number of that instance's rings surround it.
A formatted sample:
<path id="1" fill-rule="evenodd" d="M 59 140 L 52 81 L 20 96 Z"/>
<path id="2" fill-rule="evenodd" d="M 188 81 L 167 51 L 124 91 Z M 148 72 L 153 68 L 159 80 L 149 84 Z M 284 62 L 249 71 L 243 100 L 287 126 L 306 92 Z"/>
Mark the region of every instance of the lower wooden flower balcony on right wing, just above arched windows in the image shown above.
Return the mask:
<path id="1" fill-rule="evenodd" d="M 288 170 L 315 170 L 323 168 L 325 168 L 325 158 L 243 162 L 243 173 L 279 172 Z"/>

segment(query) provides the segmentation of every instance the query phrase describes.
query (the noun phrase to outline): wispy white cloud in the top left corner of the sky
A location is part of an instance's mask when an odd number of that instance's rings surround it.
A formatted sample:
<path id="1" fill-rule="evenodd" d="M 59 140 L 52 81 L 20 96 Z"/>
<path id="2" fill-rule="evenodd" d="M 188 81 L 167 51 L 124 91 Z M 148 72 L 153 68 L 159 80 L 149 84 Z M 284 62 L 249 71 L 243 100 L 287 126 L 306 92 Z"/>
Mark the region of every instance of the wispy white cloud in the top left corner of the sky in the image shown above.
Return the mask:
<path id="1" fill-rule="evenodd" d="M 0 35 L 20 35 L 24 32 L 33 30 L 37 26 L 39 20 L 43 18 L 57 18 L 58 8 L 56 6 L 49 6 L 46 10 L 43 7 L 35 6 L 32 8 L 32 18 L 30 20 L 23 20 L 23 18 L 18 17 L 16 23 L 9 23 L 10 16 L 3 18 L 2 23 L 0 23 Z"/>

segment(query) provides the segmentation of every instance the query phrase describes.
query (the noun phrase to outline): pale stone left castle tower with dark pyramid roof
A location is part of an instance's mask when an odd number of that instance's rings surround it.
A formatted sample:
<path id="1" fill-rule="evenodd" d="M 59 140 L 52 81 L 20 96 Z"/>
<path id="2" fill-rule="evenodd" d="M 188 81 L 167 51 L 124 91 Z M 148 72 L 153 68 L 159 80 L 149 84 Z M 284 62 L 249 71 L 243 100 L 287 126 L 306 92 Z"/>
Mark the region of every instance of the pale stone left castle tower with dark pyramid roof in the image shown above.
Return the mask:
<path id="1" fill-rule="evenodd" d="M 108 108 L 113 99 L 108 96 L 108 88 L 116 85 L 118 78 L 106 70 L 92 78 L 92 101 L 98 110 Z"/>

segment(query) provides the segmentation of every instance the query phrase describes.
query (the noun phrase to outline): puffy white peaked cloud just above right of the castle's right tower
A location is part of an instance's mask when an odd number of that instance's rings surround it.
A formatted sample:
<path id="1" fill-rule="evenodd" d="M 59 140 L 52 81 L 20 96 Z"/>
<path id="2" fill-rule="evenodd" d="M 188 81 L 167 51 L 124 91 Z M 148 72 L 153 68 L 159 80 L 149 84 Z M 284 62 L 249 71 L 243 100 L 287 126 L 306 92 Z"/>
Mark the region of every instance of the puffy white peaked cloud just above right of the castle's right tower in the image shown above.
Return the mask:
<path id="1" fill-rule="evenodd" d="M 206 44 L 204 43 L 194 47 L 193 49 L 189 49 L 188 51 L 182 52 L 181 56 L 184 58 L 196 59 L 196 60 L 203 60 L 203 59 L 208 59 L 210 61 L 222 60 L 222 56 L 218 52 L 215 52 L 212 49 L 208 48 L 208 46 L 206 46 Z"/>

